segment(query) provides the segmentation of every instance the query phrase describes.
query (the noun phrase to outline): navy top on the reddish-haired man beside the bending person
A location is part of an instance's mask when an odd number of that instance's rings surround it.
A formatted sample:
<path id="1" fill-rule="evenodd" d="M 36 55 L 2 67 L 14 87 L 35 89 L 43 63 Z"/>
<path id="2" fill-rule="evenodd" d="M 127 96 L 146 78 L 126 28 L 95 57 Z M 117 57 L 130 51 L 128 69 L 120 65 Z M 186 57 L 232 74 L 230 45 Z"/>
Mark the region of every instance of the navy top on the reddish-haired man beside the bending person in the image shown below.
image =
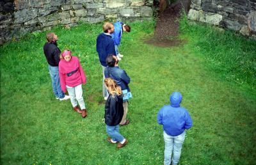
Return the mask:
<path id="1" fill-rule="evenodd" d="M 110 35 L 105 33 L 100 33 L 97 37 L 96 50 L 99 54 L 100 63 L 102 66 L 106 67 L 106 58 L 109 54 L 116 55 L 115 44 Z"/>

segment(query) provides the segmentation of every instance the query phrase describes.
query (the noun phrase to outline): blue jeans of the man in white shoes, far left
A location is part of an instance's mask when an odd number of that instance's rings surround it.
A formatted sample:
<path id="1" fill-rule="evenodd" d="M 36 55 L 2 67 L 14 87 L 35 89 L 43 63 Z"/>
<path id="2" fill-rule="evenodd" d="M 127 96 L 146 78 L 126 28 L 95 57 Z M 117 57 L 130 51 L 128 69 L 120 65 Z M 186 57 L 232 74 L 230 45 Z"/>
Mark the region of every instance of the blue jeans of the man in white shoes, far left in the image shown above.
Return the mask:
<path id="1" fill-rule="evenodd" d="M 60 86 L 60 76 L 59 76 L 59 67 L 52 67 L 48 65 L 49 72 L 52 79 L 52 90 L 56 98 L 63 98 L 65 94 L 61 91 Z"/>

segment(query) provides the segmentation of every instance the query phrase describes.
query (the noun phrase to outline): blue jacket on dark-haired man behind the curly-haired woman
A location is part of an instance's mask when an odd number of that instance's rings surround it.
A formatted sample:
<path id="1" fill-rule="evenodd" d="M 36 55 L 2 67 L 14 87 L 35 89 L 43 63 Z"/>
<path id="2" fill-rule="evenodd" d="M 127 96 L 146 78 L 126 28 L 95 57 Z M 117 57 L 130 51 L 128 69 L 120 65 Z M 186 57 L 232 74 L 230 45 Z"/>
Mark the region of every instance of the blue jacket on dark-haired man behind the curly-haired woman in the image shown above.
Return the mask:
<path id="1" fill-rule="evenodd" d="M 130 77 L 126 74 L 124 70 L 122 70 L 119 67 L 106 67 L 104 71 L 104 75 L 106 78 L 110 77 L 116 81 L 118 86 L 122 88 L 122 90 L 128 90 L 129 86 L 128 84 L 130 83 L 131 79 Z"/>

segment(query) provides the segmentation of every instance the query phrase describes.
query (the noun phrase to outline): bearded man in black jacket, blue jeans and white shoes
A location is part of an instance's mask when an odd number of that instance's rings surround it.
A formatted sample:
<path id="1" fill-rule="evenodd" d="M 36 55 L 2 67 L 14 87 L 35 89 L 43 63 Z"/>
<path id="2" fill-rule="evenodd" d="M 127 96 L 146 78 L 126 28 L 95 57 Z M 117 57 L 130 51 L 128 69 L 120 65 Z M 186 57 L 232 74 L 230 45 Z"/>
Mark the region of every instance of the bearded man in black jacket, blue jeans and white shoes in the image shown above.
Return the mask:
<path id="1" fill-rule="evenodd" d="M 52 90 L 57 100 L 67 100 L 70 98 L 61 91 L 60 77 L 59 77 L 59 62 L 61 51 L 57 47 L 58 36 L 54 33 L 47 33 L 47 42 L 44 45 L 44 54 L 48 62 L 48 68 L 52 80 Z"/>

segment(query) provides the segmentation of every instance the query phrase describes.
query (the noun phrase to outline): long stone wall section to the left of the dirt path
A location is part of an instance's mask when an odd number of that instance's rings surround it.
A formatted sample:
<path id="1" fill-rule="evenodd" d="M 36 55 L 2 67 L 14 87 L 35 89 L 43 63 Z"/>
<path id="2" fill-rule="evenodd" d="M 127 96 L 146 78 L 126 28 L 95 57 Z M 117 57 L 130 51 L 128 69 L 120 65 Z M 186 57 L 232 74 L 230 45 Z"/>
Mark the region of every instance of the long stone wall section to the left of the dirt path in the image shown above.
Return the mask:
<path id="1" fill-rule="evenodd" d="M 0 45 L 56 25 L 151 18 L 152 5 L 153 0 L 1 0 Z"/>

